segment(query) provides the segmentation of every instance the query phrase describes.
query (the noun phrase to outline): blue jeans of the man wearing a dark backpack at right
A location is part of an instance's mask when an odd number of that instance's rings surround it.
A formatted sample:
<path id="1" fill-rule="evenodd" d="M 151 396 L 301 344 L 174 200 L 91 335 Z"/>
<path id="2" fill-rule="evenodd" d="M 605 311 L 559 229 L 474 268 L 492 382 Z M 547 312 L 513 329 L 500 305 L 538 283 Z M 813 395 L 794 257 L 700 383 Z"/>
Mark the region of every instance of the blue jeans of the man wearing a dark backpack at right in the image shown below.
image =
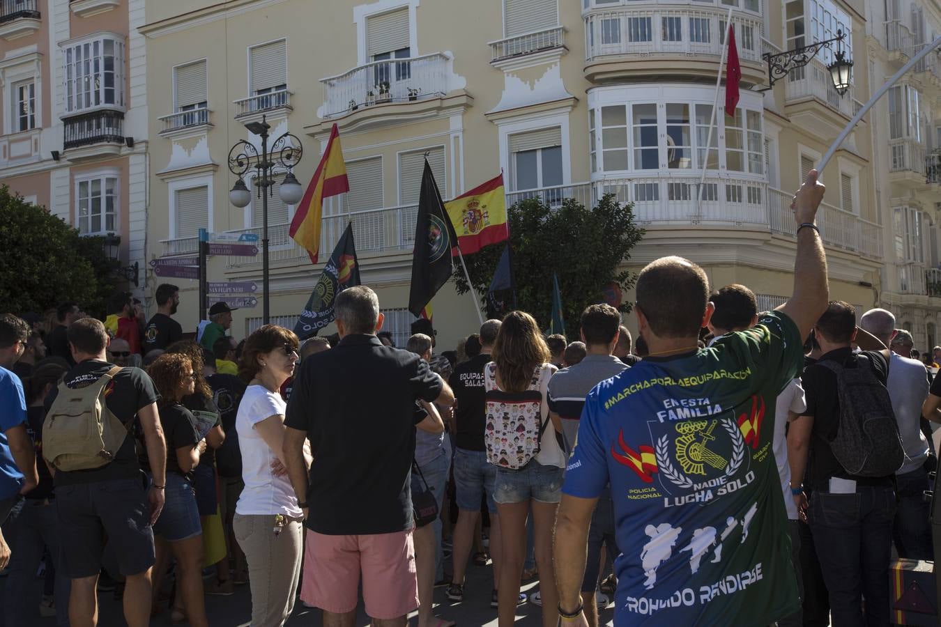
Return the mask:
<path id="1" fill-rule="evenodd" d="M 810 495 L 807 522 L 830 593 L 833 627 L 887 624 L 894 516 L 891 486 L 857 485 L 854 494 Z"/>

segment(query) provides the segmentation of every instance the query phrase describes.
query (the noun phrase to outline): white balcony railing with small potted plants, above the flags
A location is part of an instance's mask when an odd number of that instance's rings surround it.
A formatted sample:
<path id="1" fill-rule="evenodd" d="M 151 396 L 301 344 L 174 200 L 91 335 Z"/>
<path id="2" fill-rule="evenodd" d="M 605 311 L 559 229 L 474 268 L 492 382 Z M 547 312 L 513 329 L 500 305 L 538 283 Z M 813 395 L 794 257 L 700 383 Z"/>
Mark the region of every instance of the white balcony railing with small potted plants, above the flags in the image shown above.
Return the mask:
<path id="1" fill-rule="evenodd" d="M 320 79 L 324 86 L 321 118 L 342 116 L 360 107 L 408 102 L 448 92 L 448 64 L 443 53 L 375 61 Z"/>

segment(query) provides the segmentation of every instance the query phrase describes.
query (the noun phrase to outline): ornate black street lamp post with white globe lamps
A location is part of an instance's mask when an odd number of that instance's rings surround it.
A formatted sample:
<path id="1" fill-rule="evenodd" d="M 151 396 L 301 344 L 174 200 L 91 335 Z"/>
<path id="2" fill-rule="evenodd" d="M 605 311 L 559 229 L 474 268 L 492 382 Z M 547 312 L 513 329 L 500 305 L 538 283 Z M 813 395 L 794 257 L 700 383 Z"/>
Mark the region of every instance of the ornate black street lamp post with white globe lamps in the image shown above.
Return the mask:
<path id="1" fill-rule="evenodd" d="M 262 321 L 268 323 L 270 318 L 268 299 L 268 196 L 274 191 L 270 188 L 275 185 L 275 175 L 286 170 L 287 174 L 281 181 L 279 196 L 286 205 L 296 205 L 304 194 L 300 183 L 295 178 L 292 169 L 300 162 L 304 154 L 300 139 L 292 133 L 284 133 L 271 144 L 268 149 L 268 131 L 271 125 L 265 121 L 248 122 L 245 125 L 248 133 L 258 135 L 262 139 L 262 150 L 250 142 L 240 139 L 229 151 L 229 170 L 238 177 L 229 192 L 229 200 L 235 207 L 243 209 L 251 202 L 251 192 L 245 184 L 244 177 L 251 169 L 256 171 L 254 185 L 257 197 L 262 199 Z M 275 170 L 278 169 L 279 172 Z"/>

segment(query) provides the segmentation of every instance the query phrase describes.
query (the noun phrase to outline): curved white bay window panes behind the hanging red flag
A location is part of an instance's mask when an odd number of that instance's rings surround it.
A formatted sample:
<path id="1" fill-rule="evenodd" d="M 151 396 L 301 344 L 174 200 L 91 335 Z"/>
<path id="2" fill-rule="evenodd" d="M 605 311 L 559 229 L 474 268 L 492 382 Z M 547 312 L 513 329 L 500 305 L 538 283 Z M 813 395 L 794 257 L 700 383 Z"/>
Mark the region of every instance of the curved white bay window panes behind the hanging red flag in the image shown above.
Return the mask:
<path id="1" fill-rule="evenodd" d="M 696 170 L 706 161 L 711 103 L 640 102 L 589 111 L 594 171 Z M 598 133 L 600 128 L 600 133 Z M 764 175 L 761 112 L 720 108 L 708 169 Z"/>

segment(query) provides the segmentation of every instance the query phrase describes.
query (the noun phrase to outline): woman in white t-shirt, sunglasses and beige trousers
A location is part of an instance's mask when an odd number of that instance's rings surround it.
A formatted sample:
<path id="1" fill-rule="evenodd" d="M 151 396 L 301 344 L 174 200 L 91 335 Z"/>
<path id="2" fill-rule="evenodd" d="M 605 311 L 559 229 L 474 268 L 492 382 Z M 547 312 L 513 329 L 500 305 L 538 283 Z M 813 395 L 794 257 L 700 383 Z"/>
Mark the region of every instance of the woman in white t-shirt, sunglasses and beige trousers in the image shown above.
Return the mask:
<path id="1" fill-rule="evenodd" d="M 300 576 L 303 512 L 284 471 L 286 404 L 279 392 L 294 375 L 298 343 L 291 331 L 266 324 L 247 338 L 239 364 L 248 383 L 235 418 L 245 488 L 232 528 L 248 563 L 252 625 L 284 624 Z"/>

